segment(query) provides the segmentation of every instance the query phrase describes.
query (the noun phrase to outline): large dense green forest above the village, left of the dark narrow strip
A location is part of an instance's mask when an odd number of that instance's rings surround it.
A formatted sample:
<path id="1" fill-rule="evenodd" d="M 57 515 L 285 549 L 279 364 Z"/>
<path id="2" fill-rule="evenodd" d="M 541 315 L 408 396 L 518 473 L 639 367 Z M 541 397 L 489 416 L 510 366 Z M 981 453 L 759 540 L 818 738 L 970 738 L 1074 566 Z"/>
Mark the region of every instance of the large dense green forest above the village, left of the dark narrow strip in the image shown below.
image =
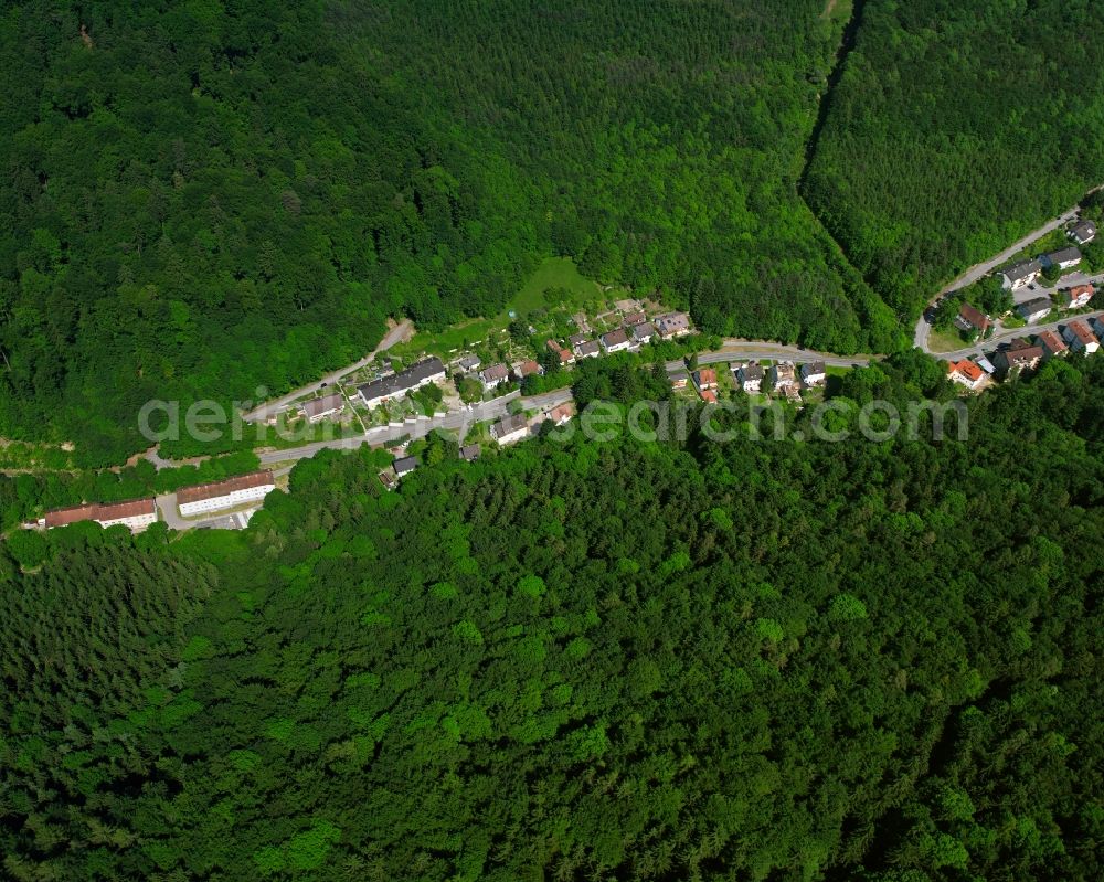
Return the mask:
<path id="1" fill-rule="evenodd" d="M 140 449 L 501 308 L 541 255 L 709 331 L 888 350 L 798 198 L 821 0 L 147 3 L 0 13 L 0 437 Z"/>

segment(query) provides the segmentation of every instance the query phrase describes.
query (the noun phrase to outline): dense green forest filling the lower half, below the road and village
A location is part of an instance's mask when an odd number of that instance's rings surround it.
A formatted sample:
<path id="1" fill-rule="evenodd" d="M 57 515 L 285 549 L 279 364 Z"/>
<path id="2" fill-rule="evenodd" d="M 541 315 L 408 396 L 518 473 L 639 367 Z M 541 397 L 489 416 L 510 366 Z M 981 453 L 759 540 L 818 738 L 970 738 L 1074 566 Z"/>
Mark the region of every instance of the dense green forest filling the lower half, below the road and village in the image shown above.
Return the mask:
<path id="1" fill-rule="evenodd" d="M 243 533 L 52 531 L 0 561 L 2 873 L 1097 880 L 1102 383 L 1050 362 L 963 442 L 544 438 L 391 493 L 323 454 Z M 836 401 L 951 394 L 895 357 Z"/>

